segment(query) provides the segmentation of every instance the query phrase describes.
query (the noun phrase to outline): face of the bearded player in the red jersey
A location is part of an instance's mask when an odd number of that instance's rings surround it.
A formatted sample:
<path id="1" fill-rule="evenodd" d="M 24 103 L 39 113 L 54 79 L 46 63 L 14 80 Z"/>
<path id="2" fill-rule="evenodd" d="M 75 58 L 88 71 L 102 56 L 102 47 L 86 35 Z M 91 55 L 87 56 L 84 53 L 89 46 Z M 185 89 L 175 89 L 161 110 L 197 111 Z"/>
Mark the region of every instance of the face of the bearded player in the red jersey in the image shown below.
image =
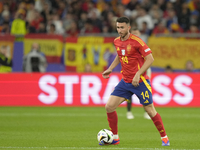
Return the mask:
<path id="1" fill-rule="evenodd" d="M 119 23 L 117 22 L 117 32 L 121 38 L 124 38 L 129 32 L 130 26 L 125 22 Z"/>

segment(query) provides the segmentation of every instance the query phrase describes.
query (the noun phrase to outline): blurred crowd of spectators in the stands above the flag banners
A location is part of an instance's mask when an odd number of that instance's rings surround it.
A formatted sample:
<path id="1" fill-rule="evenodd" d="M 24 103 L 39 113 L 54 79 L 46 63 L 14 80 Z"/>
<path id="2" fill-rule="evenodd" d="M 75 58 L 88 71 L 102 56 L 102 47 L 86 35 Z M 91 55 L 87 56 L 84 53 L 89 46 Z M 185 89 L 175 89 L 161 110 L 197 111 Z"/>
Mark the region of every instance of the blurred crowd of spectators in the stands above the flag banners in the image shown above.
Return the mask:
<path id="1" fill-rule="evenodd" d="M 199 33 L 200 0 L 0 0 L 0 32 L 116 33 L 128 16 L 142 34 Z"/>

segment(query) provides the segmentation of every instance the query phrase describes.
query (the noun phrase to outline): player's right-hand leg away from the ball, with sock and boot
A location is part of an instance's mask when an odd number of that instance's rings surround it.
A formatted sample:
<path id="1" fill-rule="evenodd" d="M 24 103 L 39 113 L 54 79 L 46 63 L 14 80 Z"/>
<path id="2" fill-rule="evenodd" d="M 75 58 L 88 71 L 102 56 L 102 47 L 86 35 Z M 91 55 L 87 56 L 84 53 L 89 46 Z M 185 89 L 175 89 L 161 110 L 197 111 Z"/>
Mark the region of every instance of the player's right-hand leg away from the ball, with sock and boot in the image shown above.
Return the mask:
<path id="1" fill-rule="evenodd" d="M 160 114 L 156 111 L 153 103 L 149 105 L 143 105 L 145 111 L 148 113 L 148 115 L 151 117 L 155 127 L 160 133 L 161 140 L 162 140 L 162 146 L 169 146 L 169 139 L 167 137 L 162 118 Z"/>

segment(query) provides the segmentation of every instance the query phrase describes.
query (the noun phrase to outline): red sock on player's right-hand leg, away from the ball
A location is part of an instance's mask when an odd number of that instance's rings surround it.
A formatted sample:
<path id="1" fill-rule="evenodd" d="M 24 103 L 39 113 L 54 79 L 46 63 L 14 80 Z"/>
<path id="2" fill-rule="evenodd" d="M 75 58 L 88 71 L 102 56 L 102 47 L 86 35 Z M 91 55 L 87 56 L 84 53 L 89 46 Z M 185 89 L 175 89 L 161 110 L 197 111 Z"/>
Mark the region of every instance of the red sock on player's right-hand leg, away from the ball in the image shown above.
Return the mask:
<path id="1" fill-rule="evenodd" d="M 155 124 L 156 128 L 158 129 L 160 136 L 166 136 L 165 128 L 162 122 L 161 116 L 157 113 L 153 118 L 151 118 L 153 123 Z"/>

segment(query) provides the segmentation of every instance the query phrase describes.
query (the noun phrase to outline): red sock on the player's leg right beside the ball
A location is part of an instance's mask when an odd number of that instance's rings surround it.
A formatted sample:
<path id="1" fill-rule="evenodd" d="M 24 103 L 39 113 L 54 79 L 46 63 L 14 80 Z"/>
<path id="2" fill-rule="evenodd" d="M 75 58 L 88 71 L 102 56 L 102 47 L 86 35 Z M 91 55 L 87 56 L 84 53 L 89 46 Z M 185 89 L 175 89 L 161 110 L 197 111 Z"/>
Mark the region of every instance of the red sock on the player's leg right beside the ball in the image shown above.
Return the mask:
<path id="1" fill-rule="evenodd" d="M 109 127 L 112 131 L 113 134 L 117 134 L 118 133 L 118 127 L 117 127 L 117 123 L 118 123 L 118 117 L 117 117 L 117 112 L 111 112 L 111 113 L 107 113 L 107 119 L 108 119 L 108 123 L 109 123 Z"/>

